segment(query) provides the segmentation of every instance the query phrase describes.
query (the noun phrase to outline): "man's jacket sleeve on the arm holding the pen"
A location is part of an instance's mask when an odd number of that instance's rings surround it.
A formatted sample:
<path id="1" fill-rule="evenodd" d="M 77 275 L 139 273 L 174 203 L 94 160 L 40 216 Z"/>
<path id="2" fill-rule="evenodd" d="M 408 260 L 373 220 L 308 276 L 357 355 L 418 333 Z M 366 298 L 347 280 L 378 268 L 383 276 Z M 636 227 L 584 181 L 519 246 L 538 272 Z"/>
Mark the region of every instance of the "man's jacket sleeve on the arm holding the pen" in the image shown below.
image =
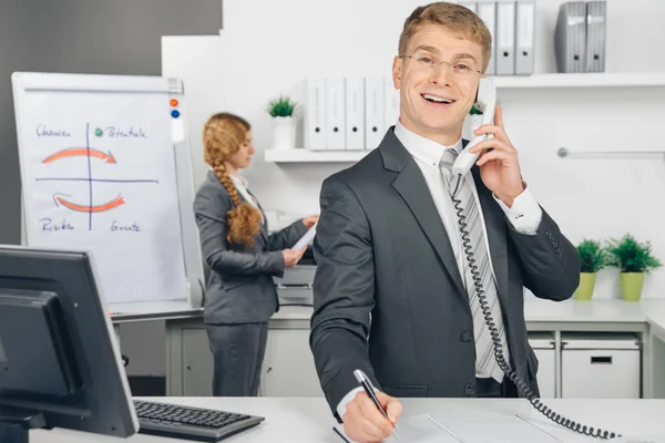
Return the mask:
<path id="1" fill-rule="evenodd" d="M 375 307 L 374 255 L 369 223 L 345 183 L 327 178 L 320 206 L 309 346 L 330 410 L 341 421 L 336 409 L 358 387 L 354 370 L 361 369 L 381 389 L 367 344 Z"/>

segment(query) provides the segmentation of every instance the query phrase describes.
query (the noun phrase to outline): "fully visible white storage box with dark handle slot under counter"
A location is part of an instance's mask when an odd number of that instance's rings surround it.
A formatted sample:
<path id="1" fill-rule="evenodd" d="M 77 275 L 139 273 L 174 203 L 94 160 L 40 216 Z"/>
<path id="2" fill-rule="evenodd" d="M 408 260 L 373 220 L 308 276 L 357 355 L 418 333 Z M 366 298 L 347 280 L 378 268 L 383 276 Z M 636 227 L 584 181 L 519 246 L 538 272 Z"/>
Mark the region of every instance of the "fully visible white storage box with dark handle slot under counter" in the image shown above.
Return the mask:
<path id="1" fill-rule="evenodd" d="M 632 333 L 562 334 L 564 399 L 640 399 L 641 350 Z"/>

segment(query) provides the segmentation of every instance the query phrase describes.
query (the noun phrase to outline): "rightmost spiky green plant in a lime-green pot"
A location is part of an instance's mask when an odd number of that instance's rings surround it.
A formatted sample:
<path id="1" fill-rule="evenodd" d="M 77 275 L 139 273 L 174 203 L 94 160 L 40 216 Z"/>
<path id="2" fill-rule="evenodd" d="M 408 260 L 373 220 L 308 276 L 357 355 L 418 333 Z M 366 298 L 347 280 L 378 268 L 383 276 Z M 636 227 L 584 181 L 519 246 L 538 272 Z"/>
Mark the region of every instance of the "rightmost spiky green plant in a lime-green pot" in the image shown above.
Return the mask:
<path id="1" fill-rule="evenodd" d="M 652 255 L 651 241 L 640 243 L 631 234 L 607 241 L 607 266 L 621 269 L 621 291 L 624 300 L 637 301 L 642 296 L 644 274 L 662 266 Z"/>

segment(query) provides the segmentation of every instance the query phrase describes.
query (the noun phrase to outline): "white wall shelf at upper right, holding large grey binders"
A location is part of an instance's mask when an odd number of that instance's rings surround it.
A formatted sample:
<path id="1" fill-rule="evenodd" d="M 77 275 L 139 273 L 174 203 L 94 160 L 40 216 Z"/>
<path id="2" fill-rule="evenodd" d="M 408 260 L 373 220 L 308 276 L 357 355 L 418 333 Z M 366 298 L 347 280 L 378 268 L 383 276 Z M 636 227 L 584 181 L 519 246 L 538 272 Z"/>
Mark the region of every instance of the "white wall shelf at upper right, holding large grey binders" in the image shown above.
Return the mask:
<path id="1" fill-rule="evenodd" d="M 665 72 L 590 72 L 494 76 L 497 87 L 640 87 L 665 86 Z"/>

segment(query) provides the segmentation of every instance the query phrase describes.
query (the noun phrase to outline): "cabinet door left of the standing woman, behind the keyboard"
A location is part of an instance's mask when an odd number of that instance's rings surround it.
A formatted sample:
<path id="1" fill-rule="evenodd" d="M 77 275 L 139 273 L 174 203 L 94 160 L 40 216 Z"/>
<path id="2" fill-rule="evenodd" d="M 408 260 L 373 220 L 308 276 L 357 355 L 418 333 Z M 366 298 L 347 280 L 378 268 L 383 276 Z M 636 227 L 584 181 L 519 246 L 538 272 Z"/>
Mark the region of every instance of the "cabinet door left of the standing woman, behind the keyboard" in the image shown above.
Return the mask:
<path id="1" fill-rule="evenodd" d="M 213 354 L 205 329 L 183 330 L 183 396 L 213 394 Z"/>

